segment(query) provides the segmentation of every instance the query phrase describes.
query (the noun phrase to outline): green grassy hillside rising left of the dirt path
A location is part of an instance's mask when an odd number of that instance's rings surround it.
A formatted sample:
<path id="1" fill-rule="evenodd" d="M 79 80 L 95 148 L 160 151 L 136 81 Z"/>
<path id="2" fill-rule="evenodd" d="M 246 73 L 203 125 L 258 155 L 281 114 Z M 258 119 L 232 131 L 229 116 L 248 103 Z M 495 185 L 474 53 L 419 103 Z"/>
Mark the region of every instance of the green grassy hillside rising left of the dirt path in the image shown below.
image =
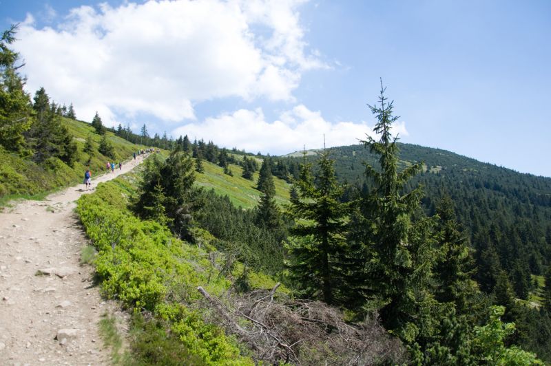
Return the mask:
<path id="1" fill-rule="evenodd" d="M 90 167 L 93 176 L 105 171 L 105 163 L 112 161 L 112 158 L 97 151 L 101 136 L 94 133 L 92 126 L 85 122 L 69 118 L 61 120 L 78 146 L 76 162 L 73 166 L 67 166 L 59 159 L 50 158 L 39 165 L 31 157 L 23 158 L 0 147 L 0 206 L 19 197 L 40 198 L 61 187 L 77 184 L 82 181 L 87 167 Z M 138 145 L 123 140 L 112 132 L 107 132 L 106 135 L 114 148 L 116 162 L 131 158 L 133 151 L 138 149 Z M 88 136 L 91 136 L 94 145 L 92 153 L 83 151 Z"/>

